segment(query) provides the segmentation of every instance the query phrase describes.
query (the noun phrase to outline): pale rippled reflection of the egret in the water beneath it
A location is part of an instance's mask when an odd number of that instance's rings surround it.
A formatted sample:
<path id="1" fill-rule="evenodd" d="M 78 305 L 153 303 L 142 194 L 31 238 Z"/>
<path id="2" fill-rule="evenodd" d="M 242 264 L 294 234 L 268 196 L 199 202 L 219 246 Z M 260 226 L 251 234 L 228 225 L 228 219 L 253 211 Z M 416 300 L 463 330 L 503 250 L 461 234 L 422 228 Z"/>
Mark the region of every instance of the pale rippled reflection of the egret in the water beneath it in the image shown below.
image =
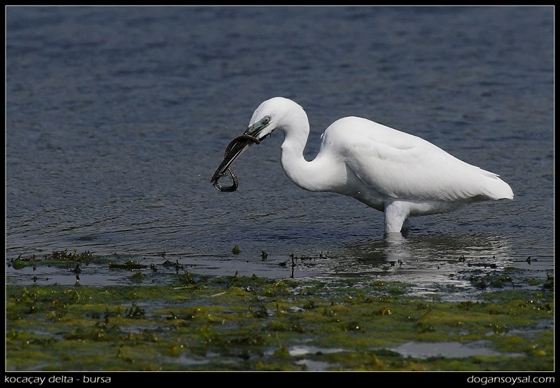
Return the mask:
<path id="1" fill-rule="evenodd" d="M 361 277 L 409 284 L 418 296 L 477 298 L 475 277 L 501 273 L 512 264 L 510 244 L 499 235 L 400 235 L 355 242 L 344 257 L 316 265 L 314 277 Z M 508 275 L 509 276 L 509 275 Z M 296 271 L 297 277 L 297 271 Z"/>

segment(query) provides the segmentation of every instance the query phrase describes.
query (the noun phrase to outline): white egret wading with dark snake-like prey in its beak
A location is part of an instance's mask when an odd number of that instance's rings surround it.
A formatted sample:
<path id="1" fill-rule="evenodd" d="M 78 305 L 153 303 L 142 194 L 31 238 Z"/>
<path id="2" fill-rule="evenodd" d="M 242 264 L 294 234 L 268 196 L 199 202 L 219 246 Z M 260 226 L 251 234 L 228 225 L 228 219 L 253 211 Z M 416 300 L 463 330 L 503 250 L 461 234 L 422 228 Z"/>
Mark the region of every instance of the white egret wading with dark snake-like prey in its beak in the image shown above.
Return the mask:
<path id="1" fill-rule="evenodd" d="M 449 212 L 477 200 L 513 199 L 512 189 L 497 174 L 365 118 L 336 120 L 321 135 L 316 158 L 307 161 L 307 114 L 283 97 L 260 104 L 244 134 L 230 143 L 211 183 L 218 190 L 235 190 L 232 162 L 274 130 L 284 134 L 281 165 L 291 181 L 309 191 L 348 195 L 384 212 L 385 233 L 399 233 L 410 216 Z M 228 169 L 234 186 L 222 188 L 218 179 Z"/>

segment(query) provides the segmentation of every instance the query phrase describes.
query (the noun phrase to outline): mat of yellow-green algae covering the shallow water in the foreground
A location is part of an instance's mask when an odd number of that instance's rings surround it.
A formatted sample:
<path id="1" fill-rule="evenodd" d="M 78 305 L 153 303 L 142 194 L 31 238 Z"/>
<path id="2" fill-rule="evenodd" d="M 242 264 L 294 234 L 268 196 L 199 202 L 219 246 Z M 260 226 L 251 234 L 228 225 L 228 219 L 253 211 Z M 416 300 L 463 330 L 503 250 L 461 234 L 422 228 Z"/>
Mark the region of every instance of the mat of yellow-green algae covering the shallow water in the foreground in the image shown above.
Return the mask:
<path id="1" fill-rule="evenodd" d="M 8 285 L 6 368 L 306 370 L 312 362 L 325 370 L 553 370 L 549 283 L 531 279 L 534 291 L 522 291 L 502 274 L 476 276 L 482 297 L 459 302 L 409 296 L 399 282 L 179 268 L 165 285 Z M 421 359 L 392 350 L 481 340 L 494 354 Z"/>

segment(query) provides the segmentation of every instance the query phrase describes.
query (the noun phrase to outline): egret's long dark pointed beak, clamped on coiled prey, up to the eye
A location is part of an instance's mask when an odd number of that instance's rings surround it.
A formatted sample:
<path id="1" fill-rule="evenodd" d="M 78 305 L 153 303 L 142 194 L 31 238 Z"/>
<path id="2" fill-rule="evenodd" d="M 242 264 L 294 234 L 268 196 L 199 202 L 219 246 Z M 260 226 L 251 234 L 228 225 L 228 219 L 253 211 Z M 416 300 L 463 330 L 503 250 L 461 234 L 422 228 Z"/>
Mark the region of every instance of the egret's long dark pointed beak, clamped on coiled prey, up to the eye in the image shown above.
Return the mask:
<path id="1" fill-rule="evenodd" d="M 272 130 L 265 131 L 265 128 L 267 128 L 269 123 L 270 116 L 265 116 L 261 120 L 258 120 L 256 123 L 249 126 L 241 136 L 236 137 L 230 142 L 230 145 L 226 148 L 223 162 L 221 162 L 220 167 L 218 167 L 216 172 L 214 172 L 214 175 L 210 179 L 210 183 L 216 186 L 218 179 L 225 176 L 225 171 L 231 167 L 232 163 L 235 162 L 239 156 L 247 151 L 247 149 L 253 144 L 260 144 L 260 141 L 264 139 L 267 134 L 272 132 Z"/>

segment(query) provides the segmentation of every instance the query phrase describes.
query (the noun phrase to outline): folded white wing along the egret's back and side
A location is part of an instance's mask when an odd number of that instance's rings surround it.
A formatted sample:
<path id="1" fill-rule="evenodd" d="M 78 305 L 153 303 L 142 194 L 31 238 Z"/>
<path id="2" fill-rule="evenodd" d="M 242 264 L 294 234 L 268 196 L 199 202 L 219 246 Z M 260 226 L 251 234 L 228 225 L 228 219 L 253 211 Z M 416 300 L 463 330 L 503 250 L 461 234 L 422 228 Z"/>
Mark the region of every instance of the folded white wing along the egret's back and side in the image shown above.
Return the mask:
<path id="1" fill-rule="evenodd" d="M 353 125 L 345 123 L 344 131 L 325 132 L 325 142 L 341 144 L 339 151 L 346 165 L 373 190 L 412 200 L 492 196 L 486 186 L 489 180 L 499 181 L 496 174 L 469 165 L 419 137 L 369 120 L 350 119 Z"/>

